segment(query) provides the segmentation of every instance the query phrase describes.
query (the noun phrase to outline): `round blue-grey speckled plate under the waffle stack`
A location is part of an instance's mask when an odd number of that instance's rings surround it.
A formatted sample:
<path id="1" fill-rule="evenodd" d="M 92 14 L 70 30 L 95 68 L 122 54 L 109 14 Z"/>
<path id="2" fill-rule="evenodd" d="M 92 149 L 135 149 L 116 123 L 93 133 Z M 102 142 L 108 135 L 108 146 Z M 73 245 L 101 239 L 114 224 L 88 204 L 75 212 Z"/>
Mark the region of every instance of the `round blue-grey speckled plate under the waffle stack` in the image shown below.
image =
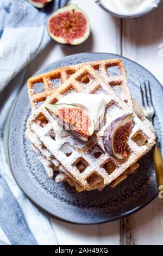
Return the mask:
<path id="1" fill-rule="evenodd" d="M 108 58 L 123 60 L 127 69 L 131 94 L 139 103 L 141 103 L 139 81 L 149 80 L 151 82 L 156 111 L 155 127 L 162 146 L 163 90 L 156 78 L 142 66 L 114 54 L 82 53 L 54 62 L 37 74 L 61 66 Z M 24 135 L 29 114 L 30 106 L 25 85 L 18 95 L 10 120 L 8 137 L 10 165 L 22 190 L 37 206 L 52 216 L 78 224 L 108 222 L 132 214 L 151 202 L 157 195 L 151 153 L 140 160 L 137 173 L 130 175 L 114 189 L 108 186 L 102 192 L 78 193 L 68 184 L 57 184 L 54 180 L 48 179 L 37 155 L 30 148 L 30 142 Z"/>

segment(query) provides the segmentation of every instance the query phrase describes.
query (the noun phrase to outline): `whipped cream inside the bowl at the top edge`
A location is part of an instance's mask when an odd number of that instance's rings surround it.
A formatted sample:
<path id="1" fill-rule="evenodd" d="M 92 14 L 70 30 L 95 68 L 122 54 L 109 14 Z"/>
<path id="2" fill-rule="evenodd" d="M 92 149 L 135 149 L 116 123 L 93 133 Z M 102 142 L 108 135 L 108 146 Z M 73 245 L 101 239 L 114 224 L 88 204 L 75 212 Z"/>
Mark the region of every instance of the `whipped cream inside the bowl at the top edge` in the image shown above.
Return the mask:
<path id="1" fill-rule="evenodd" d="M 113 13 L 136 14 L 157 7 L 158 0 L 102 0 L 105 7 Z"/>

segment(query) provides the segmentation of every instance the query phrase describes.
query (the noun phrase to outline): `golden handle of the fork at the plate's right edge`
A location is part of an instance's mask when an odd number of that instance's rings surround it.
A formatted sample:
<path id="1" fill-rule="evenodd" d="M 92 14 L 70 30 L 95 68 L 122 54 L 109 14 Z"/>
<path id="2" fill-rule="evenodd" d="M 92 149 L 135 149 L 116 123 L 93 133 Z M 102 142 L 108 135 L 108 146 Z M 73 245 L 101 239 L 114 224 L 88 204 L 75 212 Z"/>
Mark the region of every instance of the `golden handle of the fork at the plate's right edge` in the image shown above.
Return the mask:
<path id="1" fill-rule="evenodd" d="M 163 185 L 163 161 L 161 156 L 161 150 L 158 143 L 155 145 L 153 149 L 153 161 L 159 188 L 161 185 Z"/>

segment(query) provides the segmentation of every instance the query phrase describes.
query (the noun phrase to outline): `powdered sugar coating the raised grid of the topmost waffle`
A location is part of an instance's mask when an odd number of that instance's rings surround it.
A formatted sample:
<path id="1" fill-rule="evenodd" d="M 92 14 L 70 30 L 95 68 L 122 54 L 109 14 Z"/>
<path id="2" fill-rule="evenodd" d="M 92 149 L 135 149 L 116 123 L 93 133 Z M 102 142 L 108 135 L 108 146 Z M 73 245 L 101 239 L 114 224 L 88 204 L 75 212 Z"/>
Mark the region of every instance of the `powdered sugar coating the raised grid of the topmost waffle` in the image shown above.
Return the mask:
<path id="1" fill-rule="evenodd" d="M 85 74 L 89 74 L 91 76 L 93 82 L 82 84 L 78 81 L 80 76 L 85 76 Z M 77 180 L 78 183 L 83 186 L 85 189 L 90 190 L 91 186 L 89 185 L 88 178 L 92 174 L 97 174 L 102 178 L 101 186 L 105 186 L 110 184 L 111 181 L 116 179 L 119 175 L 121 175 L 131 164 L 137 161 L 143 154 L 145 154 L 149 149 L 152 148 L 155 143 L 154 133 L 145 127 L 139 118 L 134 114 L 134 127 L 132 133 L 129 138 L 129 148 L 130 155 L 128 159 L 125 161 L 119 161 L 114 157 L 105 153 L 102 154 L 101 157 L 95 159 L 90 154 L 91 148 L 97 144 L 97 147 L 103 149 L 102 140 L 100 137 L 101 130 L 96 132 L 94 136 L 92 136 L 89 143 L 84 143 L 79 141 L 78 139 L 70 136 L 65 138 L 55 137 L 55 140 L 49 136 L 49 132 L 53 129 L 52 126 L 52 117 L 45 109 L 45 105 L 47 102 L 57 102 L 61 97 L 65 96 L 66 93 L 72 92 L 82 92 L 82 93 L 104 93 L 105 98 L 108 102 L 108 107 L 114 105 L 117 107 L 117 115 L 121 116 L 124 114 L 128 114 L 131 112 L 130 108 L 124 103 L 120 97 L 116 94 L 114 89 L 109 86 L 106 86 L 104 81 L 97 75 L 95 70 L 93 70 L 90 66 L 84 66 L 82 69 L 78 70 L 71 78 L 65 82 L 63 86 L 58 88 L 51 96 L 49 96 L 48 100 L 43 103 L 43 105 L 39 108 L 36 113 L 35 119 L 32 120 L 31 128 L 33 132 L 39 137 L 40 141 L 46 146 L 46 148 L 52 153 L 52 155 L 65 167 L 67 172 L 73 177 L 74 180 Z M 108 108 L 108 114 L 106 112 L 106 124 L 108 125 L 111 120 L 115 119 L 115 109 Z M 111 110 L 110 110 L 111 109 Z M 48 120 L 48 124 L 45 127 L 41 127 L 39 124 L 39 115 L 43 114 Z M 134 141 L 133 136 L 136 132 L 144 133 L 147 137 L 148 143 L 139 147 Z M 64 147 L 64 144 L 70 144 L 74 149 L 70 156 L 66 156 L 64 151 L 61 151 L 61 148 Z M 89 144 L 89 145 L 88 145 Z M 103 149 L 104 150 L 104 149 Z M 79 161 L 83 161 L 86 165 L 86 168 L 83 173 L 80 173 L 77 168 L 77 163 Z M 111 161 L 115 164 L 116 169 L 111 174 L 108 174 L 106 169 L 104 168 L 104 164 L 106 162 Z"/>

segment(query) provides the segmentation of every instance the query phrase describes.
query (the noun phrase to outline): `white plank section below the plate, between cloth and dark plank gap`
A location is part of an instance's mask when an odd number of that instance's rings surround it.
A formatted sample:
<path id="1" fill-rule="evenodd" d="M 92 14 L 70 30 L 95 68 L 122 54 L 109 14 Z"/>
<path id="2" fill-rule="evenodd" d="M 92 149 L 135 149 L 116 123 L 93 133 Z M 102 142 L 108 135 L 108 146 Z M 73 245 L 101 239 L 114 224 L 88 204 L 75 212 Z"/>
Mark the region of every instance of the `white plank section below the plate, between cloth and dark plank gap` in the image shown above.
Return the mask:
<path id="1" fill-rule="evenodd" d="M 120 223 L 75 225 L 51 219 L 59 245 L 119 245 Z"/>

